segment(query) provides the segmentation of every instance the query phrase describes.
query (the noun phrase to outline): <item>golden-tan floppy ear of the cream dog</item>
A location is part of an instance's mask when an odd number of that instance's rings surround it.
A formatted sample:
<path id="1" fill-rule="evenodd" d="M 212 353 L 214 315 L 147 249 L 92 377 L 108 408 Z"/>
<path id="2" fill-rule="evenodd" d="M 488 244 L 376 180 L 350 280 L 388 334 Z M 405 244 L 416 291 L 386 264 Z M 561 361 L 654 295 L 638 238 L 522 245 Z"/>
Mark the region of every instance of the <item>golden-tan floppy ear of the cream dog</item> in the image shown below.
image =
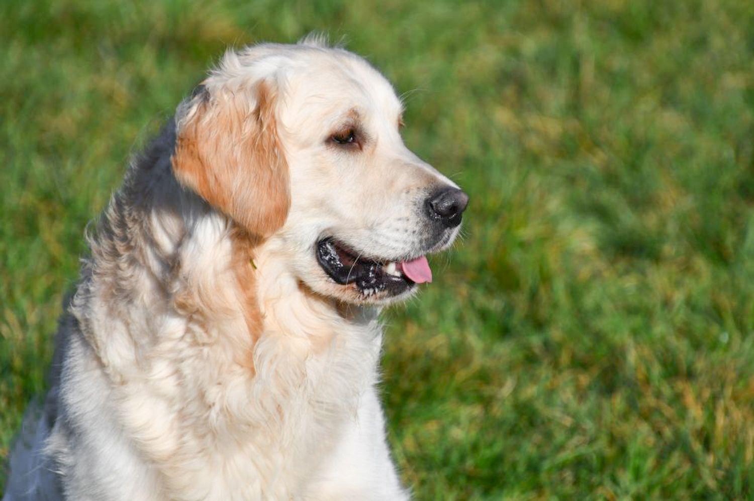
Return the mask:
<path id="1" fill-rule="evenodd" d="M 170 159 L 182 185 L 260 237 L 280 228 L 290 208 L 276 99 L 267 81 L 217 95 L 197 87 L 176 114 Z"/>

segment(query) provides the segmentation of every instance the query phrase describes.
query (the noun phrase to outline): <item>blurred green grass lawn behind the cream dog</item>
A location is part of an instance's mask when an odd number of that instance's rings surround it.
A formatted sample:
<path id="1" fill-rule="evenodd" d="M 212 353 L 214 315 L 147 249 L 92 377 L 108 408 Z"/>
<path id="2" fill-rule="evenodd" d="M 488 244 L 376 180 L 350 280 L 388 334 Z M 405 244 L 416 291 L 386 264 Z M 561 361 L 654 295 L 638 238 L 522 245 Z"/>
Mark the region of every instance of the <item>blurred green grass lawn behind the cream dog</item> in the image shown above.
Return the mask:
<path id="1" fill-rule="evenodd" d="M 751 499 L 747 0 L 0 2 L 0 457 L 129 154 L 228 44 L 311 30 L 472 199 L 386 317 L 416 498 Z"/>

